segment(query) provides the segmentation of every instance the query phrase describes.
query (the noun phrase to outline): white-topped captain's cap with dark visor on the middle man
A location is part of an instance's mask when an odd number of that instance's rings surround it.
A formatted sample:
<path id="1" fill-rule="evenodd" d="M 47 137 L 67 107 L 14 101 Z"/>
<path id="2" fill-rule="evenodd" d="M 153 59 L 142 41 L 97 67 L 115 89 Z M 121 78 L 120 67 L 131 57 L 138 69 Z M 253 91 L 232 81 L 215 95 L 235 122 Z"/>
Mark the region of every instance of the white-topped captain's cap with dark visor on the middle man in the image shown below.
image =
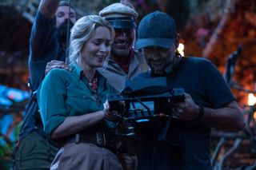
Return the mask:
<path id="1" fill-rule="evenodd" d="M 106 6 L 98 14 L 110 22 L 115 29 L 135 28 L 135 19 L 138 18 L 138 13 L 133 8 L 122 3 Z"/>

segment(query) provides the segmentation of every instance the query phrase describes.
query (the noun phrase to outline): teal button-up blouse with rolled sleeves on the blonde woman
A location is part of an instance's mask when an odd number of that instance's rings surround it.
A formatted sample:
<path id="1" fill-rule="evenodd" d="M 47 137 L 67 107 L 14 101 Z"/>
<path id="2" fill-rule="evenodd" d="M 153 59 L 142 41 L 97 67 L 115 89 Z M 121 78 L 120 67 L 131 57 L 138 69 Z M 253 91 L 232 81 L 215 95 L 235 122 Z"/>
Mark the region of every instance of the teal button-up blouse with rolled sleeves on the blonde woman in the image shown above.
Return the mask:
<path id="1" fill-rule="evenodd" d="M 38 105 L 44 131 L 50 136 L 66 117 L 94 113 L 103 109 L 110 86 L 98 73 L 97 96 L 85 83 L 85 76 L 78 65 L 73 70 L 51 69 L 38 89 Z"/>

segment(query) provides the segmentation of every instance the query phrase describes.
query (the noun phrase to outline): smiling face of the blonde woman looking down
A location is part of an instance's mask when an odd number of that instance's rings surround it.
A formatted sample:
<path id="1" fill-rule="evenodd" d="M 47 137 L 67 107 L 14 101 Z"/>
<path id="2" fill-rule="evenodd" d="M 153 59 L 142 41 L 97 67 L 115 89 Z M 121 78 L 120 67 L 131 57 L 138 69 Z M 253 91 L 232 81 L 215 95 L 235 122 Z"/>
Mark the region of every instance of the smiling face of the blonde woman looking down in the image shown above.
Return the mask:
<path id="1" fill-rule="evenodd" d="M 111 35 L 105 26 L 99 26 L 92 37 L 82 46 L 81 56 L 78 58 L 80 66 L 94 69 L 102 66 L 103 61 L 110 55 Z"/>

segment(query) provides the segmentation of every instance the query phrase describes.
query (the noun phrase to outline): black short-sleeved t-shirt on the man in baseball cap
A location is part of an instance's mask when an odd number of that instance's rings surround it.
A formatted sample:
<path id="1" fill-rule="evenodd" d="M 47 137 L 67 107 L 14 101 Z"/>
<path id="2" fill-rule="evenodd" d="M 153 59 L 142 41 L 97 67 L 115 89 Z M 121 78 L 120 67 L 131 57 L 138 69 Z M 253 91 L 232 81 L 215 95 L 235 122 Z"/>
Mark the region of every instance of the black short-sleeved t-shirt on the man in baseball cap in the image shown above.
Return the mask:
<path id="1" fill-rule="evenodd" d="M 138 77 L 150 77 L 150 73 L 142 73 Z M 196 104 L 201 103 L 205 107 L 218 109 L 236 100 L 222 74 L 204 58 L 182 57 L 182 61 L 166 79 L 170 89 L 183 88 Z M 198 121 L 169 123 L 170 132 L 171 128 L 181 130 L 178 131 L 181 135 L 181 145 L 140 140 L 138 170 L 211 169 L 210 127 Z"/>

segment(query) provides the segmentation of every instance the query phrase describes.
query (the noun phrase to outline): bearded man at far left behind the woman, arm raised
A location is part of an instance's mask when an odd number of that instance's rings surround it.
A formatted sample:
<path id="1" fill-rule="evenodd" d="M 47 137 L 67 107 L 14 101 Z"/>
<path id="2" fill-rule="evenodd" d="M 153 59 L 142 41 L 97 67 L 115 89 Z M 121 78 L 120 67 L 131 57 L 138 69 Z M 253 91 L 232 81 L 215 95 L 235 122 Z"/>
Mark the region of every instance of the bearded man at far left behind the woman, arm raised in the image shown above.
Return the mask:
<path id="1" fill-rule="evenodd" d="M 29 81 L 32 95 L 14 150 L 14 169 L 50 169 L 58 151 L 43 132 L 35 94 L 45 76 L 47 62 L 54 65 L 66 59 L 67 30 L 77 19 L 74 6 L 69 5 L 66 1 L 42 0 L 38 7 L 30 36 Z M 58 68 L 68 69 L 64 62 Z"/>

